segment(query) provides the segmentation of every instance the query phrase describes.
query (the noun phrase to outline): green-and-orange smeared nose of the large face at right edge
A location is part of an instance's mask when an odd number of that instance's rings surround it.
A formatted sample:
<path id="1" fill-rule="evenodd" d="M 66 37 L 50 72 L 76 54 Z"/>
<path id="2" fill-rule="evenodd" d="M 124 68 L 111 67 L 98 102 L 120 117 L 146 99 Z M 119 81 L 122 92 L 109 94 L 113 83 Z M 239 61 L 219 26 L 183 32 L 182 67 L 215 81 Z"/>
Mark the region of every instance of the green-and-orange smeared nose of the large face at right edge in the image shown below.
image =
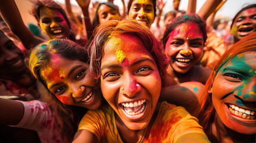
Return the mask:
<path id="1" fill-rule="evenodd" d="M 235 95 L 240 97 L 243 101 L 255 102 L 256 101 L 256 74 L 249 82 L 243 83 L 234 92 Z"/>

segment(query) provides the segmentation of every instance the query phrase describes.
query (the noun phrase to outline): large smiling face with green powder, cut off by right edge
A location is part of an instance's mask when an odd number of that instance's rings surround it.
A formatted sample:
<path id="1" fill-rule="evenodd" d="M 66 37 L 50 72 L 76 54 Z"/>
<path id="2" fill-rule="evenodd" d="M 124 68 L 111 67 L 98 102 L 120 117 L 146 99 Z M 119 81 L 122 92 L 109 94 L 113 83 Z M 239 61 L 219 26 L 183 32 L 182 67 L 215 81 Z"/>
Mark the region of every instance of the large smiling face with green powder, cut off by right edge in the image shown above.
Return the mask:
<path id="1" fill-rule="evenodd" d="M 256 52 L 236 55 L 217 73 L 212 102 L 221 121 L 243 134 L 256 133 Z"/>

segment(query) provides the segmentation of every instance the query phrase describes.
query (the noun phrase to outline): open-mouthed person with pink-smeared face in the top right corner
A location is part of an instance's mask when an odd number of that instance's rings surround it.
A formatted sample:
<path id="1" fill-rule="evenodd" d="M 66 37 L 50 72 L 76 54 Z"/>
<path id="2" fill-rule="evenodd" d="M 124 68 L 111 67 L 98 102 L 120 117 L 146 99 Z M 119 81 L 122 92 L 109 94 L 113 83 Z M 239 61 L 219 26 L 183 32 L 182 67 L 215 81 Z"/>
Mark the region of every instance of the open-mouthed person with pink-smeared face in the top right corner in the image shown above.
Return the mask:
<path id="1" fill-rule="evenodd" d="M 230 31 L 230 33 L 235 37 L 234 42 L 238 42 L 246 35 L 256 31 L 255 14 L 256 4 L 252 4 L 242 8 L 242 10 L 235 15 Z"/>

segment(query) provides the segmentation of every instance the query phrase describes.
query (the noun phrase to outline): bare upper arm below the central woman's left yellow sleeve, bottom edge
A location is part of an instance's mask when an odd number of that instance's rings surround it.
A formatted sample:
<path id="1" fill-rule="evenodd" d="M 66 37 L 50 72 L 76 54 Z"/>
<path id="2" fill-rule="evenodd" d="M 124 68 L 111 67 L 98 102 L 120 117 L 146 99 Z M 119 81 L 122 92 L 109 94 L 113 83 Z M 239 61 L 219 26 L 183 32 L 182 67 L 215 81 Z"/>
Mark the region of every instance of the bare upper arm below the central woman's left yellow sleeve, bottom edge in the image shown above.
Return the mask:
<path id="1" fill-rule="evenodd" d="M 73 139 L 73 143 L 76 142 L 96 143 L 98 142 L 98 139 L 97 136 L 95 136 L 92 132 L 89 132 L 88 130 L 78 130 Z"/>

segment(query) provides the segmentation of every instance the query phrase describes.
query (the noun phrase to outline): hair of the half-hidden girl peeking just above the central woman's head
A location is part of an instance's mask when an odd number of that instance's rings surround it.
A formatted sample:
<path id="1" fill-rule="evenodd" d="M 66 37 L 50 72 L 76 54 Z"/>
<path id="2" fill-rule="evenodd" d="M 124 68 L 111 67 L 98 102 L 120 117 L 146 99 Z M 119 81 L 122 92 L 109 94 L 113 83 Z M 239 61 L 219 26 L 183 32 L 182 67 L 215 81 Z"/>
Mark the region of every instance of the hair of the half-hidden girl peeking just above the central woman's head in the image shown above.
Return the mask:
<path id="1" fill-rule="evenodd" d="M 103 3 L 98 4 L 98 7 L 95 10 L 95 15 L 94 15 L 94 18 L 92 21 L 92 29 L 93 30 L 98 26 L 98 24 L 100 24 L 100 19 L 98 17 L 98 8 L 100 8 L 100 5 L 103 5 L 103 4 L 107 5 L 107 7 L 113 8 L 113 10 L 117 11 L 118 14 L 120 15 L 118 8 L 112 2 L 103 2 Z"/>

